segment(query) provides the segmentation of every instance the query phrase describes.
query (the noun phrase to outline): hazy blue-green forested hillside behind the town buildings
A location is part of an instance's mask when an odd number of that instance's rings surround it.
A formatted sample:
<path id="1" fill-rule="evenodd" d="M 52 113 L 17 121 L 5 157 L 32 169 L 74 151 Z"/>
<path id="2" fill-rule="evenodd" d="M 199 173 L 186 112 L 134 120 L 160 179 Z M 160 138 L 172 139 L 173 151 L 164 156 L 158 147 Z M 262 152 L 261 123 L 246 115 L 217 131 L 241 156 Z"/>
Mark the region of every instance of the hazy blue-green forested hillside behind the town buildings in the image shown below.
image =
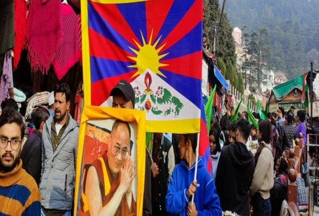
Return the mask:
<path id="1" fill-rule="evenodd" d="M 268 65 L 285 72 L 287 78 L 308 71 L 311 59 L 318 64 L 319 1 L 228 0 L 225 12 L 231 25 L 243 29 L 243 34 L 259 29 L 268 32 Z"/>

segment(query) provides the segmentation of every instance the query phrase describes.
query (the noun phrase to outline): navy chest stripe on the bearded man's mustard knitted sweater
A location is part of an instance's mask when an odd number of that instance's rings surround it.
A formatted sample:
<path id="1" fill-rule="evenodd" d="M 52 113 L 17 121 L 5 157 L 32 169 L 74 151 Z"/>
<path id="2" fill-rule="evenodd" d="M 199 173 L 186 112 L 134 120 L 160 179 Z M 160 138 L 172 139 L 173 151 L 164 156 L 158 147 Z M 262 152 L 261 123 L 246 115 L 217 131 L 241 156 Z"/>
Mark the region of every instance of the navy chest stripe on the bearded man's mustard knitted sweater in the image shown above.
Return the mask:
<path id="1" fill-rule="evenodd" d="M 0 195 L 19 201 L 24 206 L 30 196 L 30 190 L 23 185 L 12 185 L 6 188 L 0 187 Z"/>

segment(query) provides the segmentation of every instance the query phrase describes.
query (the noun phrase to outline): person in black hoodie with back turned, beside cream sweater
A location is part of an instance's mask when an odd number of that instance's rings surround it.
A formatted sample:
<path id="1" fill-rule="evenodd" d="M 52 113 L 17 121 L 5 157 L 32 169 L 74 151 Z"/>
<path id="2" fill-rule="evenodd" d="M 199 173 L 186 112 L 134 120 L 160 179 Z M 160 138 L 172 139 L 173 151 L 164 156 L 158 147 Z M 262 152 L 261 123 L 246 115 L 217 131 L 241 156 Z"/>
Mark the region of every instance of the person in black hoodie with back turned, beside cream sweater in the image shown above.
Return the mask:
<path id="1" fill-rule="evenodd" d="M 254 157 L 245 146 L 250 131 L 247 120 L 237 122 L 236 141 L 222 149 L 215 183 L 222 210 L 243 216 L 249 215 L 248 191 L 255 169 Z"/>

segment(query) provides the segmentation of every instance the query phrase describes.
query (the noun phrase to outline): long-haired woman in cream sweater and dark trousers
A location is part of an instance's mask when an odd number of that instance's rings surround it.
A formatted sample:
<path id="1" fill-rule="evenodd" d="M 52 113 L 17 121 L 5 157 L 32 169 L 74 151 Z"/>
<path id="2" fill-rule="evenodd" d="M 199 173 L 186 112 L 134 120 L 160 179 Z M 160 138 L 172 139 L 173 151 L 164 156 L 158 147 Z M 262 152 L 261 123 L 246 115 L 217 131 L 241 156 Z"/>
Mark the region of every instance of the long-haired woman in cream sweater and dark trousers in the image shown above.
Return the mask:
<path id="1" fill-rule="evenodd" d="M 274 159 L 270 145 L 271 123 L 261 120 L 258 123 L 259 146 L 255 154 L 255 172 L 249 193 L 255 215 L 270 215 L 270 189 L 274 186 Z"/>

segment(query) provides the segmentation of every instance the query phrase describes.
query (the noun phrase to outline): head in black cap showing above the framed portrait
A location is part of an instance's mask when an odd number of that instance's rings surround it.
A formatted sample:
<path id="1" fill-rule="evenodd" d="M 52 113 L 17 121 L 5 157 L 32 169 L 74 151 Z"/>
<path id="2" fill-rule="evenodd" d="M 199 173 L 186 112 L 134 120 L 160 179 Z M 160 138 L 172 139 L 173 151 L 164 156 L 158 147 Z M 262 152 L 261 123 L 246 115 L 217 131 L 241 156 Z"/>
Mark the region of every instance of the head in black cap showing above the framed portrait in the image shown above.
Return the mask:
<path id="1" fill-rule="evenodd" d="M 134 89 L 127 81 L 119 81 L 112 89 L 110 95 L 113 96 L 112 107 L 134 109 Z"/>

